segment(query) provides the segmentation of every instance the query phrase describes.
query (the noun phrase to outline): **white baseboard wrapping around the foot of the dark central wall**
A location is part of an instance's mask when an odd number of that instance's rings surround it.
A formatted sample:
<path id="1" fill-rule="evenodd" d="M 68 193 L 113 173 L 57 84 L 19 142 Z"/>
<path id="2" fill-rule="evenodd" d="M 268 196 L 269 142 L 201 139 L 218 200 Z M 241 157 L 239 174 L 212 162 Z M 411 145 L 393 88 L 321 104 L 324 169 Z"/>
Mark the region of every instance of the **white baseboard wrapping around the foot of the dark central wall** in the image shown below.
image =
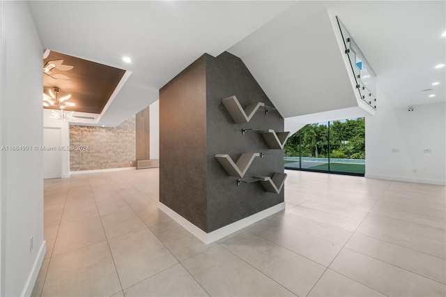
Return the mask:
<path id="1" fill-rule="evenodd" d="M 228 236 L 229 234 L 232 234 L 240 229 L 248 227 L 250 224 L 259 222 L 259 220 L 263 220 L 270 215 L 274 215 L 275 213 L 284 210 L 285 202 L 267 208 L 259 213 L 254 213 L 254 215 L 249 215 L 247 218 L 243 218 L 242 220 L 228 224 L 210 233 L 206 233 L 205 231 L 199 229 L 199 227 L 195 226 L 181 215 L 178 215 L 178 213 L 169 208 L 169 206 L 162 204 L 162 202 L 158 202 L 158 208 L 178 222 L 178 224 L 183 226 L 184 229 L 190 231 L 190 233 L 192 233 L 195 237 L 199 238 L 200 241 L 203 241 L 203 243 L 208 245 L 209 243 L 218 241 L 219 239 L 224 238 L 225 236 Z"/>

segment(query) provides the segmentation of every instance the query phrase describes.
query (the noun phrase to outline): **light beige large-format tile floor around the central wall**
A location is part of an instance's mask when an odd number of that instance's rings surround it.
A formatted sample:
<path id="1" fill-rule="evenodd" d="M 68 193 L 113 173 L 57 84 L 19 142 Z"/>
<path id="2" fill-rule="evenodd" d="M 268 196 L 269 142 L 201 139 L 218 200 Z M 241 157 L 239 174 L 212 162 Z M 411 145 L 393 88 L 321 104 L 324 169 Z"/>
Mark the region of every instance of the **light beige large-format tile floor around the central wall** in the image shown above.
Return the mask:
<path id="1" fill-rule="evenodd" d="M 286 211 L 210 245 L 157 169 L 45 180 L 33 296 L 446 296 L 444 186 L 286 173 Z"/>

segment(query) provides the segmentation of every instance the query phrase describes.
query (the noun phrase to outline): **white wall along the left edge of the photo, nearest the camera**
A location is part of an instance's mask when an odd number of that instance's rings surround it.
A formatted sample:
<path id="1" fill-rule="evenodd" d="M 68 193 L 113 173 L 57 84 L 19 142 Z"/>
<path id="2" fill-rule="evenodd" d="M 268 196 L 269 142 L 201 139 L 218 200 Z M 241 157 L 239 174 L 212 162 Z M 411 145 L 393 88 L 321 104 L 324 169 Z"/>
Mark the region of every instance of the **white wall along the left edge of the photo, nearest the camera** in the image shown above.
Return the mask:
<path id="1" fill-rule="evenodd" d="M 0 5 L 0 146 L 40 146 L 43 48 L 26 1 Z M 31 294 L 45 255 L 42 165 L 42 151 L 0 151 L 1 296 Z"/>

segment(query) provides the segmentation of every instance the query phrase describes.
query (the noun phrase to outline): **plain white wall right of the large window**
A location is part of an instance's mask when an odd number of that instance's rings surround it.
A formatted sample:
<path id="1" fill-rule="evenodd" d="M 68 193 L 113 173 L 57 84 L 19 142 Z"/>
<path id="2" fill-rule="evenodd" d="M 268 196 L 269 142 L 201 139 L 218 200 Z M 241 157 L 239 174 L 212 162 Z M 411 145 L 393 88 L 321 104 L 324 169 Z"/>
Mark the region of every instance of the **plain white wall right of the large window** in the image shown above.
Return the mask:
<path id="1" fill-rule="evenodd" d="M 408 107 L 393 109 L 379 90 L 378 103 L 375 116 L 366 118 L 365 175 L 445 185 L 445 103 L 417 105 L 408 112 Z"/>

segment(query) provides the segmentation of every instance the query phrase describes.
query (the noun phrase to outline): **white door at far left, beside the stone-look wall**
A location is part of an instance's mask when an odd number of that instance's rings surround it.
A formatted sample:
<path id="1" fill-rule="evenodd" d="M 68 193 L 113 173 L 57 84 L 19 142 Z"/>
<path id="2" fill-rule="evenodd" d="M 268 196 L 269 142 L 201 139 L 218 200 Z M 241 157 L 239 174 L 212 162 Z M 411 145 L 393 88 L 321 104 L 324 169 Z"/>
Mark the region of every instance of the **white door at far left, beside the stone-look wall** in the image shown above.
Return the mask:
<path id="1" fill-rule="evenodd" d="M 43 128 L 43 178 L 62 177 L 61 128 Z M 55 148 L 55 150 L 51 150 Z"/>

